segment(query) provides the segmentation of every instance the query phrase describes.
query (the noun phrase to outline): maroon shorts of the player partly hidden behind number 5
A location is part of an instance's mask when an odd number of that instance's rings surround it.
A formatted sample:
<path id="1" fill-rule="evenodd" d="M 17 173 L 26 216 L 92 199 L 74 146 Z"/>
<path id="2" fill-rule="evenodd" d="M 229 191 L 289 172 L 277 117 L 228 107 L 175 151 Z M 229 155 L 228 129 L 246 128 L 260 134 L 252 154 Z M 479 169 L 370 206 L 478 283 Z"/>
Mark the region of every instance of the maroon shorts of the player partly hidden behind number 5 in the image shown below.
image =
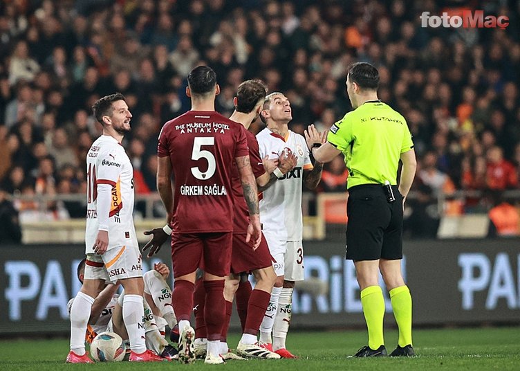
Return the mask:
<path id="1" fill-rule="evenodd" d="M 274 259 L 269 252 L 266 237 L 263 237 L 260 246 L 253 250 L 245 242 L 245 233 L 233 233 L 233 251 L 231 253 L 231 272 L 234 274 L 250 272 L 272 266 Z"/>

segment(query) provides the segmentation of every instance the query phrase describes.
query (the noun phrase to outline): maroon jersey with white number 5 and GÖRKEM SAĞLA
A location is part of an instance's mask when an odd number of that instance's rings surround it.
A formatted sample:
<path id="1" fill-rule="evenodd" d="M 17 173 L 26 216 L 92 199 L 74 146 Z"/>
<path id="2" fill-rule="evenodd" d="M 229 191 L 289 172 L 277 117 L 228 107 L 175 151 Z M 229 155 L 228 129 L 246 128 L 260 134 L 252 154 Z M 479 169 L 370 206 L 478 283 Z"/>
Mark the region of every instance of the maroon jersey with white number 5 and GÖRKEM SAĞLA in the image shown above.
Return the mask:
<path id="1" fill-rule="evenodd" d="M 174 233 L 231 232 L 234 159 L 249 154 L 244 127 L 215 111 L 187 111 L 165 123 L 157 154 L 174 172 Z"/>

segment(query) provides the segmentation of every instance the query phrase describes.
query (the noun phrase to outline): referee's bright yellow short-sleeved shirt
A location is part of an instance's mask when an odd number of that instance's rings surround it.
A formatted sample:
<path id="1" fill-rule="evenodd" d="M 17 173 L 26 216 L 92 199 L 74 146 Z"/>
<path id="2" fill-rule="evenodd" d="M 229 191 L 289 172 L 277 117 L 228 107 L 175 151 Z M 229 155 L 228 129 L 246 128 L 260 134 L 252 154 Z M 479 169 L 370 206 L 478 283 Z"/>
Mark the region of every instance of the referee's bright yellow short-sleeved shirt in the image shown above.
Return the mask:
<path id="1" fill-rule="evenodd" d="M 328 143 L 343 152 L 349 179 L 360 184 L 397 184 L 399 158 L 414 148 L 405 118 L 380 101 L 365 102 L 333 124 Z"/>

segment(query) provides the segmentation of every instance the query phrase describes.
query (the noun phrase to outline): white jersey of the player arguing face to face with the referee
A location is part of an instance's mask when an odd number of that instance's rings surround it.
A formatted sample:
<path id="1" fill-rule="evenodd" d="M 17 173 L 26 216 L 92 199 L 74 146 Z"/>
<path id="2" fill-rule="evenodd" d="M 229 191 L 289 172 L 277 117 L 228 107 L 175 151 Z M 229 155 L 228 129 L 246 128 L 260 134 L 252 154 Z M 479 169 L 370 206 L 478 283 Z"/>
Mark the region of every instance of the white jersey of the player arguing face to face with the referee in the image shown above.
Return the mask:
<path id="1" fill-rule="evenodd" d="M 263 231 L 280 241 L 301 241 L 301 184 L 304 170 L 313 168 L 305 138 L 290 130 L 286 138 L 283 138 L 266 128 L 257 134 L 257 140 L 261 159 L 265 156 L 278 159 L 286 148 L 298 157 L 296 167 L 261 194 L 260 222 Z"/>

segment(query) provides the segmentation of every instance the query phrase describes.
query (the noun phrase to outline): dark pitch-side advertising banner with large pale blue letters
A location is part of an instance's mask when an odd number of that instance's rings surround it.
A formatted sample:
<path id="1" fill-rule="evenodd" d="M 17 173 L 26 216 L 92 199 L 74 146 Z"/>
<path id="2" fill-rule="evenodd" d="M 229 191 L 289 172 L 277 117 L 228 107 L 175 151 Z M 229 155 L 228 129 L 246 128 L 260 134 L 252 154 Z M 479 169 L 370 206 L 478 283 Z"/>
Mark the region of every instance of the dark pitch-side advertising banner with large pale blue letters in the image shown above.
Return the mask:
<path id="1" fill-rule="evenodd" d="M 360 292 L 353 264 L 344 260 L 344 243 L 304 242 L 304 249 L 306 281 L 297 284 L 291 327 L 362 325 Z M 78 245 L 2 246 L 0 334 L 68 332 L 66 304 L 80 289 L 76 266 L 83 251 Z M 167 246 L 153 260 L 143 259 L 143 269 L 158 261 L 169 262 Z M 416 325 L 520 323 L 519 239 L 407 242 L 402 271 Z"/>

